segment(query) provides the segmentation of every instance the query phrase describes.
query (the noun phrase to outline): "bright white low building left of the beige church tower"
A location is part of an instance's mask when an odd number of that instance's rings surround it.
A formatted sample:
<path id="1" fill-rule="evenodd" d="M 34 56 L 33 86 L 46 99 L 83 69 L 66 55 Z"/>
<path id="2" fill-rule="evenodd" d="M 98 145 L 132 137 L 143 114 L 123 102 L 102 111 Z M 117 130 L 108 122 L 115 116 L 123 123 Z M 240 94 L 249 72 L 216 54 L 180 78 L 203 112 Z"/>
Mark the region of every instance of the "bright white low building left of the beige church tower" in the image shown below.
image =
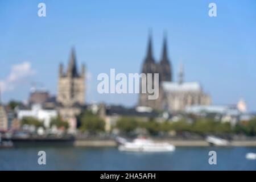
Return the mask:
<path id="1" fill-rule="evenodd" d="M 39 119 L 40 121 L 43 121 L 44 126 L 48 128 L 50 126 L 51 118 L 57 117 L 57 111 L 42 109 L 42 105 L 35 104 L 32 105 L 31 110 L 18 109 L 17 115 L 18 119 L 22 119 L 24 117 L 34 117 Z"/>

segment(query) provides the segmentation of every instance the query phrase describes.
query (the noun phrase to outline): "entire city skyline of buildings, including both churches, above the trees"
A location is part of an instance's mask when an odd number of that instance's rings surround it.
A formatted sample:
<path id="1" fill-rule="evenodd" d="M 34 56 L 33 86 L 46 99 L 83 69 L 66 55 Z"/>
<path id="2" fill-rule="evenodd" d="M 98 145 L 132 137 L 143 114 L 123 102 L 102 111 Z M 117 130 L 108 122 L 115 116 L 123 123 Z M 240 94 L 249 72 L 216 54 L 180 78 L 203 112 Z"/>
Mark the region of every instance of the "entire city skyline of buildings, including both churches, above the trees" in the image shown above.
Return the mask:
<path id="1" fill-rule="evenodd" d="M 84 109 L 97 109 L 106 121 L 106 130 L 122 115 L 140 117 L 141 119 L 171 119 L 181 112 L 193 114 L 217 113 L 226 121 L 236 122 L 241 113 L 246 113 L 246 104 L 240 101 L 237 106 L 213 106 L 209 94 L 205 93 L 199 82 L 185 82 L 183 67 L 180 65 L 179 80 L 174 81 L 172 64 L 168 57 L 167 37 L 163 39 L 162 57 L 155 61 L 152 51 L 152 37 L 148 38 L 146 57 L 142 65 L 142 73 L 159 73 L 159 97 L 148 100 L 148 93 L 140 93 L 138 105 L 127 109 L 122 106 L 88 105 L 85 103 L 85 66 L 77 69 L 75 49 L 72 49 L 67 69 L 59 65 L 57 95 L 51 96 L 45 90 L 32 89 L 27 105 L 20 105 L 11 111 L 0 105 L 0 130 L 8 130 L 18 126 L 24 117 L 34 117 L 50 126 L 51 118 L 60 115 L 69 122 L 70 130 L 77 126 L 76 115 Z M 153 74 L 154 76 L 154 74 Z M 141 83 L 143 85 L 143 83 Z M 147 86 L 147 84 L 146 84 Z M 158 112 L 156 112 L 156 110 Z M 159 114 L 159 111 L 162 111 Z M 163 114 L 165 113 L 165 114 Z M 228 119 L 229 118 L 229 119 Z M 224 119 L 224 120 L 225 120 Z"/>

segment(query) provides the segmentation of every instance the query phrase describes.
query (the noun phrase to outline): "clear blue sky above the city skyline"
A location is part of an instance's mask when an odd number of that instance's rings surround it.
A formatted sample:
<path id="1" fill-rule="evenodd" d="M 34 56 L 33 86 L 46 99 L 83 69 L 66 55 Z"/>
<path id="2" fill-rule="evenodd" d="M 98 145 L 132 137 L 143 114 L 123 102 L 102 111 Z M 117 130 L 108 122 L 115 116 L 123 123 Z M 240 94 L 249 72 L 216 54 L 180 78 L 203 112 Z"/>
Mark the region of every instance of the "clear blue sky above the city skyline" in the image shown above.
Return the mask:
<path id="1" fill-rule="evenodd" d="M 38 3 L 47 16 L 40 18 Z M 217 17 L 208 5 L 217 5 Z M 135 105 L 135 94 L 98 94 L 97 75 L 141 71 L 148 29 L 154 57 L 160 59 L 163 32 L 174 79 L 182 61 L 185 81 L 199 81 L 213 104 L 236 104 L 242 97 L 256 110 L 256 1 L 0 1 L 0 81 L 15 65 L 28 74 L 2 94 L 4 101 L 26 100 L 32 81 L 57 90 L 58 65 L 67 65 L 75 46 L 77 63 L 90 79 L 86 101 Z M 18 74 L 19 76 L 19 74 Z"/>

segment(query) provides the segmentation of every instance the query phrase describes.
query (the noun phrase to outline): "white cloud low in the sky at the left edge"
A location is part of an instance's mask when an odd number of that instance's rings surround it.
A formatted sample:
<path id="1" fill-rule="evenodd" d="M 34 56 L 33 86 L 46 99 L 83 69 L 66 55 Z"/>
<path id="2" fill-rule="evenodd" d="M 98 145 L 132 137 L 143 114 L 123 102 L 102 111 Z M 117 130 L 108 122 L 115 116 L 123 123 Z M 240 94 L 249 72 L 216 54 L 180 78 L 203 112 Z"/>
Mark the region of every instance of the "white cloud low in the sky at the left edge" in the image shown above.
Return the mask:
<path id="1" fill-rule="evenodd" d="M 1 92 L 14 90 L 22 82 L 32 75 L 35 75 L 35 70 L 31 68 L 29 62 L 15 64 L 11 66 L 11 72 L 5 80 L 0 80 Z"/>

